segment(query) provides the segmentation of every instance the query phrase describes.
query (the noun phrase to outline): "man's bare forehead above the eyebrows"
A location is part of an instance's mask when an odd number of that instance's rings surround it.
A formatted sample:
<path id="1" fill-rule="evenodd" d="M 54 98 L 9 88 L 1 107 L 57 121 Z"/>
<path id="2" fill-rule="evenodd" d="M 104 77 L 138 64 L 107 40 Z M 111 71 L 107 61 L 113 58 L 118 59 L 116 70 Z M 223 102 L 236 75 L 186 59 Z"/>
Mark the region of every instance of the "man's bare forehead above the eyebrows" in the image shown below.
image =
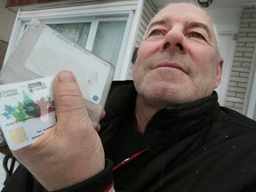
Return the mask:
<path id="1" fill-rule="evenodd" d="M 194 4 L 170 4 L 158 12 L 150 23 L 158 22 L 159 20 L 184 24 L 198 22 L 212 29 L 212 20 L 208 14 Z"/>

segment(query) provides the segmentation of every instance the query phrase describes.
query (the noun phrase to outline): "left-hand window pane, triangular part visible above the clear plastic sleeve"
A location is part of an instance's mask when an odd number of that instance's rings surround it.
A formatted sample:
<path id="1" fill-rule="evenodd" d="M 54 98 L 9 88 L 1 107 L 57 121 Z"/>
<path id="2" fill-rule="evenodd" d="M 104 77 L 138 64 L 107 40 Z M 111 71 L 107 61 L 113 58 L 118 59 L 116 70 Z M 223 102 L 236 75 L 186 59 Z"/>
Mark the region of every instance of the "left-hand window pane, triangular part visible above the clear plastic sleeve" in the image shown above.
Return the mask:
<path id="1" fill-rule="evenodd" d="M 51 28 L 54 28 L 60 34 L 67 37 L 69 40 L 85 48 L 89 31 L 91 28 L 91 22 L 88 23 L 64 23 L 64 24 L 49 24 Z"/>

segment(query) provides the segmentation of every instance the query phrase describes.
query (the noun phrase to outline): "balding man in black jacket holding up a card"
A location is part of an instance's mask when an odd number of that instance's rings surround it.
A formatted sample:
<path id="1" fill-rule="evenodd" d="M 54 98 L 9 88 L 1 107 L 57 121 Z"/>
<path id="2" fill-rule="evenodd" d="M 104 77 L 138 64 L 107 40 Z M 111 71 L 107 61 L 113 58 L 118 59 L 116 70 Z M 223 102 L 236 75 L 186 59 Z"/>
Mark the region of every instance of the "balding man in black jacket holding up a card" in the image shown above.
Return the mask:
<path id="1" fill-rule="evenodd" d="M 100 137 L 76 78 L 61 72 L 58 123 L 13 151 L 31 174 L 20 166 L 3 191 L 256 191 L 256 124 L 220 108 L 222 62 L 208 15 L 166 6 L 140 45 L 134 86 L 113 83 Z"/>

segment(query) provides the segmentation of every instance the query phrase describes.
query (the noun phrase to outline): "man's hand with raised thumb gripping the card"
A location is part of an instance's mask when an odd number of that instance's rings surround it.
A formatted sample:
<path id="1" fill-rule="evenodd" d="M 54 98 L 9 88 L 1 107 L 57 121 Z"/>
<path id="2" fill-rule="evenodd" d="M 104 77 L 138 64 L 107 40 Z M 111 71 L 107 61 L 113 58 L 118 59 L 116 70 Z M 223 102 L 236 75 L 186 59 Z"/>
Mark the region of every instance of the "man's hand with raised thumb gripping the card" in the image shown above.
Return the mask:
<path id="1" fill-rule="evenodd" d="M 54 103 L 57 124 L 35 143 L 13 151 L 49 191 L 89 179 L 105 166 L 100 137 L 87 114 L 76 77 L 68 71 L 55 79 Z"/>

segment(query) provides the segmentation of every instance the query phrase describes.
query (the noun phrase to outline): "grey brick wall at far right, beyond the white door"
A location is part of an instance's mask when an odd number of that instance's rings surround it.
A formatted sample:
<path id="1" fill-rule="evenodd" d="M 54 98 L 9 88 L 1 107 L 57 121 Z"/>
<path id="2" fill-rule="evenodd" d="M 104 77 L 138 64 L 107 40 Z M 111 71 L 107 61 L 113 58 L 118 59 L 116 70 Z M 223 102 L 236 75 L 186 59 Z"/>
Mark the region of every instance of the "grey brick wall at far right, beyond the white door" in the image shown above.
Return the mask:
<path id="1" fill-rule="evenodd" d="M 225 106 L 243 113 L 246 92 L 250 87 L 250 72 L 253 53 L 256 51 L 256 4 L 244 5 L 241 23 L 236 40 L 236 50 L 228 84 Z"/>

